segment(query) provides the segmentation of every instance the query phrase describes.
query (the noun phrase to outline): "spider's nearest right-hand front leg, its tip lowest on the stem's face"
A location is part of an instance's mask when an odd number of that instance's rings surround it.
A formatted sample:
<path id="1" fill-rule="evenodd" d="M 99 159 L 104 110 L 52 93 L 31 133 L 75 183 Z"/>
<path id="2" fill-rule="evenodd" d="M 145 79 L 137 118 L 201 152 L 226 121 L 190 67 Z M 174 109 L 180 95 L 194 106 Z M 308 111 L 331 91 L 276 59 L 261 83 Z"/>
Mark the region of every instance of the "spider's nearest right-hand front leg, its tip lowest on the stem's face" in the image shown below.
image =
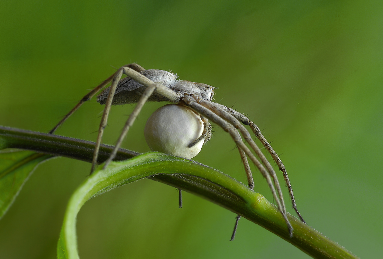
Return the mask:
<path id="1" fill-rule="evenodd" d="M 247 156 L 249 156 L 250 160 L 254 163 L 255 166 L 259 169 L 260 173 L 266 178 L 267 184 L 273 194 L 273 197 L 275 199 L 275 202 L 277 202 L 278 209 L 280 210 L 283 218 L 285 219 L 288 231 L 290 233 L 290 236 L 293 234 L 293 227 L 291 226 L 288 218 L 285 208 L 282 206 L 282 201 L 280 200 L 280 197 L 277 195 L 277 192 L 275 191 L 275 187 L 273 185 L 273 182 L 270 178 L 270 173 L 264 168 L 264 166 L 259 162 L 259 160 L 254 156 L 254 154 L 250 151 L 250 149 L 245 145 L 245 143 L 242 141 L 241 137 L 239 136 L 238 132 L 224 119 L 222 119 L 220 116 L 215 114 L 210 109 L 202 106 L 201 104 L 197 103 L 196 99 L 194 99 L 191 96 L 185 96 L 183 98 L 183 101 L 194 109 L 196 112 L 199 112 L 203 114 L 203 116 L 206 116 L 208 119 L 213 121 L 214 123 L 218 124 L 222 129 L 224 129 L 226 132 L 228 132 L 234 142 L 237 144 L 237 147 L 241 148 Z M 229 114 L 230 115 L 230 114 Z M 247 132 L 248 133 L 248 132 Z M 251 139 L 251 138 L 250 138 Z M 275 181 L 277 182 L 277 181 Z"/>

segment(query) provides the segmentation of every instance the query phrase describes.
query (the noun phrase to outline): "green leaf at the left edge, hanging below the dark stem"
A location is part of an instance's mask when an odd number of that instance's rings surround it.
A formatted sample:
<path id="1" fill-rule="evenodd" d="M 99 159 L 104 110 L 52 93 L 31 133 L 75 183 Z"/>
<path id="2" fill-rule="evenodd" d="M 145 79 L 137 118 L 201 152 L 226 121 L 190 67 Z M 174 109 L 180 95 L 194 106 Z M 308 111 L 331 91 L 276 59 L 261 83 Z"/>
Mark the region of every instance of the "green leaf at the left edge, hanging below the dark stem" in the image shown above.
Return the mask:
<path id="1" fill-rule="evenodd" d="M 51 155 L 32 151 L 0 153 L 0 218 L 7 212 L 28 177 Z"/>

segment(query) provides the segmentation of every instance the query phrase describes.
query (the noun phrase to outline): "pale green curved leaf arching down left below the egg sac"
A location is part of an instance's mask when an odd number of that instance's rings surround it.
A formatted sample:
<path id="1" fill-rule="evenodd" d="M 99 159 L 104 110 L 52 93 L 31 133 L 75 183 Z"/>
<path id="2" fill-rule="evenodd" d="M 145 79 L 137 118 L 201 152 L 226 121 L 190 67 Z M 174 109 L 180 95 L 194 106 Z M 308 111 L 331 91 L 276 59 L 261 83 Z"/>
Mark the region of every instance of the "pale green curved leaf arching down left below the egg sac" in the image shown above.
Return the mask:
<path id="1" fill-rule="evenodd" d="M 188 174 L 181 174 L 187 170 Z M 77 236 L 76 236 L 76 217 L 82 205 L 90 198 L 109 191 L 115 187 L 128 184 L 139 179 L 152 176 L 154 174 L 171 174 L 181 178 L 192 179 L 194 182 L 194 191 L 203 190 L 208 193 L 208 197 L 217 199 L 214 196 L 219 194 L 220 202 L 229 205 L 236 203 L 237 209 L 243 206 L 243 202 L 239 202 L 243 197 L 251 202 L 247 203 L 247 209 L 257 207 L 265 210 L 264 206 L 272 207 L 278 217 L 280 213 L 275 207 L 265 200 L 265 198 L 255 192 L 250 191 L 246 186 L 220 173 L 214 169 L 202 166 L 190 160 L 178 158 L 174 156 L 164 155 L 162 153 L 146 153 L 136 156 L 130 160 L 113 162 L 105 170 L 96 171 L 92 176 L 88 177 L 74 192 L 69 200 L 67 210 L 65 212 L 64 224 L 62 226 L 60 240 L 57 245 L 58 258 L 79 258 L 77 252 Z M 220 192 L 224 189 L 223 192 Z M 241 194 L 241 196 L 238 196 Z M 221 205 L 222 205 L 221 204 Z M 233 209 L 233 208 L 231 208 Z M 282 224 L 284 223 L 281 218 Z M 286 226 L 283 228 L 287 229 Z M 285 230 L 287 232 L 287 230 Z"/>

